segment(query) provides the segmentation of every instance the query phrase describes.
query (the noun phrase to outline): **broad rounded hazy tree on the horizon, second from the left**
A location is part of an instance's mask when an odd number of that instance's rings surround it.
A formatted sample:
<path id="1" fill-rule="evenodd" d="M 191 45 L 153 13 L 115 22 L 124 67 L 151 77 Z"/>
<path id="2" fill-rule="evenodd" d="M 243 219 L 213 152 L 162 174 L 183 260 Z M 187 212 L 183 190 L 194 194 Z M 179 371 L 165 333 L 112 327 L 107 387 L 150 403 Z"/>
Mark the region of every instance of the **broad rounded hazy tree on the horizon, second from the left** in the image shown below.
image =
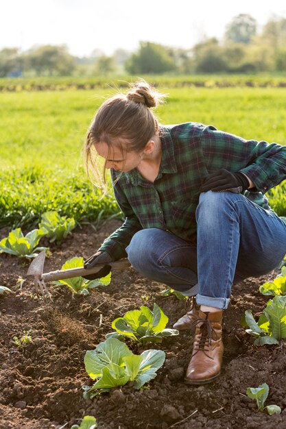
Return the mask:
<path id="1" fill-rule="evenodd" d="M 38 75 L 71 75 L 75 68 L 75 59 L 65 45 L 43 45 L 27 54 L 29 68 Z"/>

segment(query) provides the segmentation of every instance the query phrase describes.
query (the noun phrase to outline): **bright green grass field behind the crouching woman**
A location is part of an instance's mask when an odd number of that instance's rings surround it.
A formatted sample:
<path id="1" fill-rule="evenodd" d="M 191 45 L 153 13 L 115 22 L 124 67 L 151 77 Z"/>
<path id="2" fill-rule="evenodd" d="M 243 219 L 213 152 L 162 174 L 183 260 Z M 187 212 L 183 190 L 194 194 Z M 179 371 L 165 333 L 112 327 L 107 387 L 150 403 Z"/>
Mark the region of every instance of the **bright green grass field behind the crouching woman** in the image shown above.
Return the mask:
<path id="1" fill-rule="evenodd" d="M 118 211 L 110 195 L 98 202 L 82 169 L 86 129 L 107 89 L 0 94 L 0 225 L 36 225 L 47 209 L 95 221 Z M 178 86 L 178 85 L 177 85 Z M 198 88 L 158 85 L 168 93 L 161 123 L 196 121 L 243 138 L 286 145 L 286 88 Z M 282 195 L 277 210 L 286 214 Z M 282 212 L 281 212 L 282 210 Z"/>

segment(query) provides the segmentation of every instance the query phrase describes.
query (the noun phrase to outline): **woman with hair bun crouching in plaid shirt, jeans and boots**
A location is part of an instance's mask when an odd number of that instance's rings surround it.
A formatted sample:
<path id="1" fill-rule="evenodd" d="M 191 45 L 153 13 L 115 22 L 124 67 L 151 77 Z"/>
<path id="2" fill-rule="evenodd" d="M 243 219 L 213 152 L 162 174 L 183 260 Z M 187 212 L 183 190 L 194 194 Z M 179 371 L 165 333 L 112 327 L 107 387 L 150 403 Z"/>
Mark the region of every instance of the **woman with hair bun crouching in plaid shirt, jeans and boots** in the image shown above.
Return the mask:
<path id="1" fill-rule="evenodd" d="M 265 192 L 286 178 L 286 147 L 244 140 L 212 125 L 158 124 L 163 96 L 146 82 L 99 108 L 84 146 L 110 169 L 126 221 L 84 267 L 128 256 L 141 275 L 195 302 L 174 328 L 196 326 L 189 384 L 215 380 L 222 365 L 222 310 L 234 282 L 272 271 L 286 253 L 286 225 Z M 102 182 L 105 185 L 105 175 Z"/>

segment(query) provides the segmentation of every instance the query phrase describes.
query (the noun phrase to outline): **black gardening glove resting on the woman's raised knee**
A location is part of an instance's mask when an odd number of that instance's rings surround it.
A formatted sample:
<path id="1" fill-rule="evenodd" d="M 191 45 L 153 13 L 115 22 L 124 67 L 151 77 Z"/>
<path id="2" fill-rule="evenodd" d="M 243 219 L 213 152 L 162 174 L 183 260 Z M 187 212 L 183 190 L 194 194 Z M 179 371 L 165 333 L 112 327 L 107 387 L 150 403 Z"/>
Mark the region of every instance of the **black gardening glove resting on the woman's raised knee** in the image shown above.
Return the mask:
<path id="1" fill-rule="evenodd" d="M 231 173 L 226 169 L 219 169 L 204 178 L 200 190 L 202 192 L 232 191 L 234 193 L 241 193 L 248 189 L 249 186 L 248 178 L 243 173 Z"/>

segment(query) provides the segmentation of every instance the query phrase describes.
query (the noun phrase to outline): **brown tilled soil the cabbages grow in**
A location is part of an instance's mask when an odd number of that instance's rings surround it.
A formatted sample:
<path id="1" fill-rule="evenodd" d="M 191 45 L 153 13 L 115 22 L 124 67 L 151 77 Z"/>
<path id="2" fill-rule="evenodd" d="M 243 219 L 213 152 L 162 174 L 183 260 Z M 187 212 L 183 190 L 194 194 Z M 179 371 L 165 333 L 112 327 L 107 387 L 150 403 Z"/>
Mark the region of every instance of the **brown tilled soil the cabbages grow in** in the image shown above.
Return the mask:
<path id="1" fill-rule="evenodd" d="M 73 256 L 91 256 L 119 224 L 108 221 L 98 231 L 84 225 L 62 245 L 50 245 L 45 271 L 60 269 Z M 7 235 L 7 228 L 0 230 L 0 238 Z M 252 309 L 257 317 L 265 307 L 267 297 L 259 293 L 259 285 L 275 278 L 274 271 L 233 286 L 231 304 L 224 312 L 222 374 L 215 382 L 200 387 L 184 384 L 193 339 L 193 331 L 184 331 L 144 347 L 166 354 L 158 376 L 144 389 L 136 391 L 127 384 L 84 400 L 82 385 L 92 384 L 84 354 L 104 341 L 113 319 L 142 305 L 153 308 L 156 302 L 171 327 L 186 312 L 186 303 L 163 297 L 165 285 L 142 278 L 132 268 L 113 273 L 111 284 L 93 289 L 91 295 L 72 295 L 65 286 L 49 284 L 51 300 L 44 299 L 25 280 L 28 266 L 23 259 L 0 254 L 0 285 L 12 289 L 0 296 L 1 429 L 69 429 L 84 415 L 95 416 L 100 429 L 286 428 L 285 345 L 255 347 L 240 323 L 245 310 Z M 19 278 L 25 280 L 22 286 Z M 13 337 L 22 336 L 24 330 L 31 330 L 32 343 L 22 349 Z M 263 382 L 270 386 L 265 405 L 281 406 L 281 415 L 260 413 L 246 396 L 247 387 Z"/>

